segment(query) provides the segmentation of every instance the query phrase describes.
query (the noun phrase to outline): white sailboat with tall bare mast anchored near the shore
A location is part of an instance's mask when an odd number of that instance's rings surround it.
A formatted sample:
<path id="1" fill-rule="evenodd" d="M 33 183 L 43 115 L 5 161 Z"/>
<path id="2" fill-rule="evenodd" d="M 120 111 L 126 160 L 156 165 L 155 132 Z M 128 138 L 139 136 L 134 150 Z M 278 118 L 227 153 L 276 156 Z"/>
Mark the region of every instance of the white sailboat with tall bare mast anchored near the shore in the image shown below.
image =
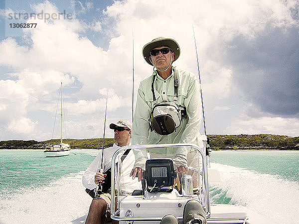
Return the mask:
<path id="1" fill-rule="evenodd" d="M 61 112 L 60 112 L 60 143 L 46 146 L 44 151 L 46 157 L 66 156 L 70 154 L 71 147 L 62 142 L 62 83 L 61 83 Z"/>

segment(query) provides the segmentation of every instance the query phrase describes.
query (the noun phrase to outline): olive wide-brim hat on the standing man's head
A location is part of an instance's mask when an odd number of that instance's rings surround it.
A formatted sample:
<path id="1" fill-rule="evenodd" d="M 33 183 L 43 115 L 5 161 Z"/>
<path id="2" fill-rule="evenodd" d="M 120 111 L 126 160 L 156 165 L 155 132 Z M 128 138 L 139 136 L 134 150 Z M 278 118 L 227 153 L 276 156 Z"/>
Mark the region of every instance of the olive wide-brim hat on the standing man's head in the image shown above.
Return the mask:
<path id="1" fill-rule="evenodd" d="M 147 43 L 142 49 L 142 54 L 144 56 L 144 59 L 150 65 L 152 65 L 152 64 L 149 60 L 149 57 L 150 57 L 149 52 L 153 48 L 161 47 L 161 46 L 169 47 L 171 49 L 171 51 L 174 53 L 174 60 L 173 61 L 178 59 L 178 57 L 180 55 L 180 48 L 179 48 L 178 43 L 175 40 L 171 39 L 171 38 L 157 37 L 157 38 L 154 38 L 149 43 Z"/>

